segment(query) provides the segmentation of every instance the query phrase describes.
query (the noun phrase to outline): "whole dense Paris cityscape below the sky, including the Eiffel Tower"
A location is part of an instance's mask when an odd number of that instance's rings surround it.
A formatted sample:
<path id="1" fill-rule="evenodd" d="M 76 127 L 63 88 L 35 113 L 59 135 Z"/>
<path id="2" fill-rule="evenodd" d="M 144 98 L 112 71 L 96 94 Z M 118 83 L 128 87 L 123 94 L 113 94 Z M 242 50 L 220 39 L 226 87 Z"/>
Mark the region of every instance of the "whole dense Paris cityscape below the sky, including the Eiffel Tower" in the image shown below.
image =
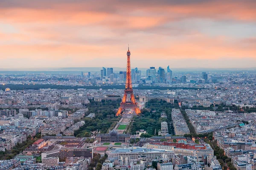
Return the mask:
<path id="1" fill-rule="evenodd" d="M 254 71 L 0 74 L 4 170 L 253 170 Z M 125 91 L 123 90 L 125 88 Z"/>

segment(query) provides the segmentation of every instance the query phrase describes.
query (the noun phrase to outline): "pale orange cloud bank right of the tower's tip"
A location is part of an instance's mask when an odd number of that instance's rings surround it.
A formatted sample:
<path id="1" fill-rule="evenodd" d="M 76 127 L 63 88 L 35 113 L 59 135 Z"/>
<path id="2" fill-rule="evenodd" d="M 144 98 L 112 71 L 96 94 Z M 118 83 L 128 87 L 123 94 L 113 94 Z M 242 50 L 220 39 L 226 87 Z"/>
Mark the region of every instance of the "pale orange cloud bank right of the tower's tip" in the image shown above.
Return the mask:
<path id="1" fill-rule="evenodd" d="M 162 39 L 161 39 L 162 40 Z M 190 36 L 186 40 L 164 41 L 154 38 L 156 44 L 152 48 L 139 48 L 134 53 L 142 58 L 159 59 L 220 59 L 225 57 L 256 59 L 256 46 L 243 46 L 241 42 L 233 42 L 229 37 L 207 37 L 205 35 Z M 147 54 L 147 55 L 143 55 Z"/>

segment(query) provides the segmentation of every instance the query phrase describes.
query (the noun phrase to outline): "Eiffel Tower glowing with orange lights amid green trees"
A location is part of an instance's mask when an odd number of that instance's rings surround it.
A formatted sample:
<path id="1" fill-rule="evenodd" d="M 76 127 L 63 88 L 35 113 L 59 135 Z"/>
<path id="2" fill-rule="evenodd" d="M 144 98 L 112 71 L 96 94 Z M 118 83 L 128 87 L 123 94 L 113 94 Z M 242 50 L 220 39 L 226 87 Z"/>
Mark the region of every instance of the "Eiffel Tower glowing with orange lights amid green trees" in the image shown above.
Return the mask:
<path id="1" fill-rule="evenodd" d="M 118 108 L 118 111 L 116 113 L 116 116 L 119 116 L 124 109 L 133 109 L 136 114 L 140 114 L 140 109 L 137 105 L 137 102 L 134 98 L 133 89 L 131 85 L 131 62 L 130 62 L 130 51 L 129 51 L 129 45 L 128 45 L 128 51 L 127 51 L 127 68 L 126 68 L 126 84 L 125 84 L 125 94 L 122 98 L 122 102 L 120 103 L 120 107 Z M 131 102 L 127 102 L 127 96 L 128 94 L 131 96 Z"/>

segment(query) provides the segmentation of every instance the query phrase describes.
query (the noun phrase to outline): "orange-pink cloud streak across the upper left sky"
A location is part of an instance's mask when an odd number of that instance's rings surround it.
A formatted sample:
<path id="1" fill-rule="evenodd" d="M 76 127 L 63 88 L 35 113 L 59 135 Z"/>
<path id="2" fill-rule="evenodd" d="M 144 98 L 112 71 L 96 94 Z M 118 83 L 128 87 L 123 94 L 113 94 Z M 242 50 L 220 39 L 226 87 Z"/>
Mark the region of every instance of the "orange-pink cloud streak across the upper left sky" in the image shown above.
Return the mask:
<path id="1" fill-rule="evenodd" d="M 7 8 L 0 11 L 1 20 L 15 23 L 92 24 L 103 21 L 107 16 L 108 14 L 104 12 L 76 12 L 54 9 Z"/>

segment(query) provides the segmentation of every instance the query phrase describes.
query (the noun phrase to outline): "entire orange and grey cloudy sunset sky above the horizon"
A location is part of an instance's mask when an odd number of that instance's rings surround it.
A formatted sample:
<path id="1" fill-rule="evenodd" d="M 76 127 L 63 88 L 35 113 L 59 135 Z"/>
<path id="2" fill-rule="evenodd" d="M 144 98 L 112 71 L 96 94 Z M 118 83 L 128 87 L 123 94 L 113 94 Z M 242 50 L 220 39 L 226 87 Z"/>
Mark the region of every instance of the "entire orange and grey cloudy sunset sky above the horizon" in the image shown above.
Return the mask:
<path id="1" fill-rule="evenodd" d="M 0 0 L 0 67 L 256 67 L 256 0 Z"/>

